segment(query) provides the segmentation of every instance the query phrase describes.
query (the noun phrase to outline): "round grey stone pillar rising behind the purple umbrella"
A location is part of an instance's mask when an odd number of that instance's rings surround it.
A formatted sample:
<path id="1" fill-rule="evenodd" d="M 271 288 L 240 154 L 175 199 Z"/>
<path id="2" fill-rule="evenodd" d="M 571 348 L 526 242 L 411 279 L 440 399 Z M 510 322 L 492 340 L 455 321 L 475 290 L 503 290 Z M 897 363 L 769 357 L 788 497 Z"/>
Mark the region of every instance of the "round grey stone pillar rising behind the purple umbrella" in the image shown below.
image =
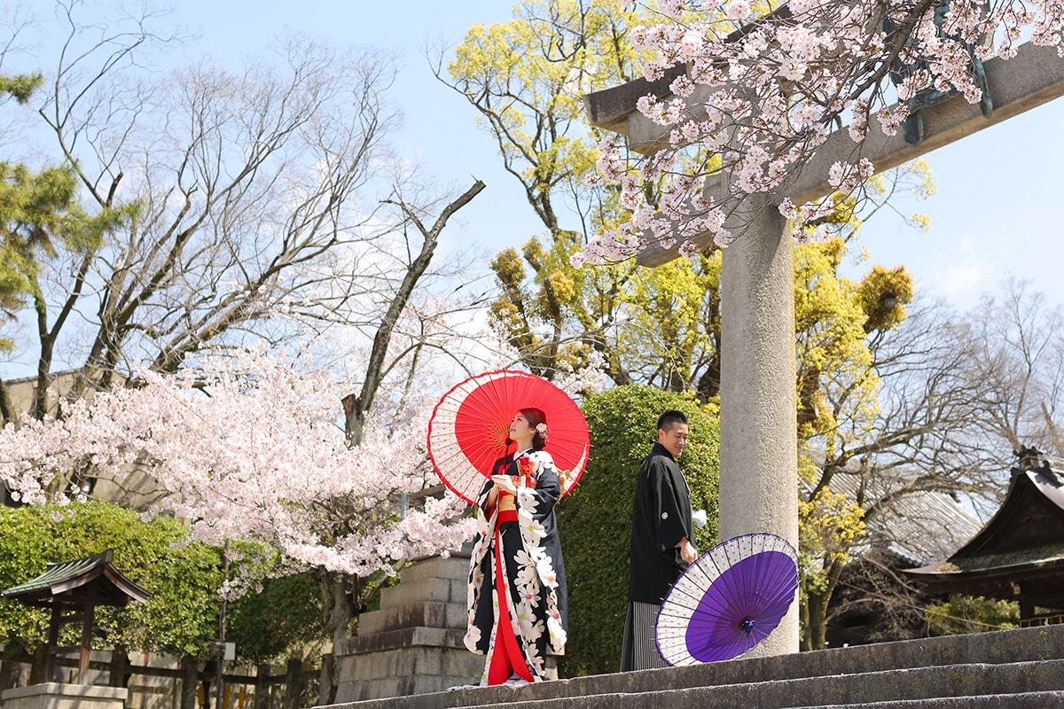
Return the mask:
<path id="1" fill-rule="evenodd" d="M 721 266 L 720 539 L 767 531 L 798 548 L 793 243 L 749 199 Z M 797 598 L 750 656 L 798 652 Z"/>

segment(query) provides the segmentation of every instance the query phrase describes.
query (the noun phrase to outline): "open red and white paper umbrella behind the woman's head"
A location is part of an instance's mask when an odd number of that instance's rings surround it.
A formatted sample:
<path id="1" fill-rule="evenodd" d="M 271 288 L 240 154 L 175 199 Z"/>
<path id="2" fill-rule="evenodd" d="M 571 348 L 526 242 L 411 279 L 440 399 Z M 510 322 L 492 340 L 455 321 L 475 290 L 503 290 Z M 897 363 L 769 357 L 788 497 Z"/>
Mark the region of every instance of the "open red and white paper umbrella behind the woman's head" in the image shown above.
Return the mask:
<path id="1" fill-rule="evenodd" d="M 550 428 L 544 449 L 564 475 L 564 495 L 587 465 L 587 422 L 569 394 L 543 377 L 501 370 L 471 376 L 444 394 L 429 420 L 429 457 L 440 479 L 460 497 L 476 504 L 492 463 L 508 445 L 510 422 L 522 408 L 538 408 Z"/>

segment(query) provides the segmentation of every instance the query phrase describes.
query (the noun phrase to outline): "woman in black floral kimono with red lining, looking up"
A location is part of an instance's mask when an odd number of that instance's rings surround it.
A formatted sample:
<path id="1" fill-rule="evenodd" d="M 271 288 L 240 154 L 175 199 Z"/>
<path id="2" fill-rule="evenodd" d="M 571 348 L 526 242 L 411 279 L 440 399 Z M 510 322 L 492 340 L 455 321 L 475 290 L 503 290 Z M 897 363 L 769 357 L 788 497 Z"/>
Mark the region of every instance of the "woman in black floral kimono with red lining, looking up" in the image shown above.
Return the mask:
<path id="1" fill-rule="evenodd" d="M 554 503 L 562 494 L 544 450 L 546 415 L 522 408 L 510 424 L 517 452 L 497 460 L 477 497 L 465 645 L 486 655 L 481 685 L 546 679 L 548 652 L 565 645 L 565 564 Z"/>

